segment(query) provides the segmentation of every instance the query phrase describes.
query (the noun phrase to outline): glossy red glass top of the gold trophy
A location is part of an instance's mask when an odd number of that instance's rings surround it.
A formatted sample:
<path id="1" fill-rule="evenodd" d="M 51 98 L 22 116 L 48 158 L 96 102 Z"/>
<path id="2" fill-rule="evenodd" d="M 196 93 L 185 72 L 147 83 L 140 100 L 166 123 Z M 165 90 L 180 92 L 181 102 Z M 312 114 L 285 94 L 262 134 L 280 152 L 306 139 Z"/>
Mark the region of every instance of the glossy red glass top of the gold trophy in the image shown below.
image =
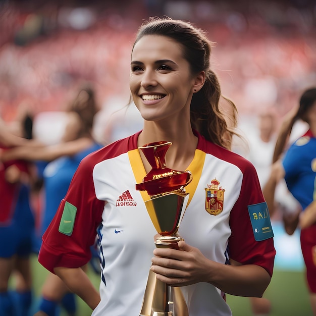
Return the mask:
<path id="1" fill-rule="evenodd" d="M 183 189 L 192 181 L 190 171 L 166 167 L 165 155 L 171 145 L 171 142 L 159 141 L 139 147 L 152 169 L 141 183 L 136 184 L 136 190 L 147 191 L 148 195 L 154 196 Z"/>

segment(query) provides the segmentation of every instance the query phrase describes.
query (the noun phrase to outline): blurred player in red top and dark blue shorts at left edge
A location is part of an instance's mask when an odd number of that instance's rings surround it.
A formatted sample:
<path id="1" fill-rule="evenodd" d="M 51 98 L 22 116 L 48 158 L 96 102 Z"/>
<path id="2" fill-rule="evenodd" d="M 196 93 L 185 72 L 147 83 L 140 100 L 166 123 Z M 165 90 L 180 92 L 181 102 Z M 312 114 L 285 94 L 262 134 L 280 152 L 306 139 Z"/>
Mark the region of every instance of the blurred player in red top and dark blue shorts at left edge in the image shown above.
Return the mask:
<path id="1" fill-rule="evenodd" d="M 28 113 L 24 113 L 16 123 L 17 129 L 6 126 L 0 131 L 1 139 L 7 146 L 25 143 L 22 138 L 32 138 L 32 117 Z M 9 150 L 4 144 L 2 148 Z M 25 161 L 0 163 L 0 314 L 3 316 L 28 315 L 32 303 L 30 254 L 34 214 L 30 191 L 33 179 L 31 164 Z M 13 275 L 15 282 L 9 291 Z"/>

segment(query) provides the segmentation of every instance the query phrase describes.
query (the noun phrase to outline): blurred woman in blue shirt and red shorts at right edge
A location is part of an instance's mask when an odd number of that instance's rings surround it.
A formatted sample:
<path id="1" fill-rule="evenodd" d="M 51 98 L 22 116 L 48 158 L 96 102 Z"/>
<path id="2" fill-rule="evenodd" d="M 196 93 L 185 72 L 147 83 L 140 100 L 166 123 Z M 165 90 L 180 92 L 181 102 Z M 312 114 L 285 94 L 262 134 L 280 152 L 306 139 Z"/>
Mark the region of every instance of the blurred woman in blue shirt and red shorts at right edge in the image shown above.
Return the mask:
<path id="1" fill-rule="evenodd" d="M 293 111 L 294 110 L 294 111 Z M 299 107 L 285 118 L 276 142 L 275 157 L 279 157 L 286 139 L 297 120 L 309 125 L 308 131 L 297 139 L 272 166 L 271 176 L 264 188 L 265 196 L 273 201 L 275 186 L 282 178 L 300 203 L 298 218 L 301 248 L 306 265 L 307 285 L 313 314 L 316 315 L 316 88 L 304 91 Z"/>

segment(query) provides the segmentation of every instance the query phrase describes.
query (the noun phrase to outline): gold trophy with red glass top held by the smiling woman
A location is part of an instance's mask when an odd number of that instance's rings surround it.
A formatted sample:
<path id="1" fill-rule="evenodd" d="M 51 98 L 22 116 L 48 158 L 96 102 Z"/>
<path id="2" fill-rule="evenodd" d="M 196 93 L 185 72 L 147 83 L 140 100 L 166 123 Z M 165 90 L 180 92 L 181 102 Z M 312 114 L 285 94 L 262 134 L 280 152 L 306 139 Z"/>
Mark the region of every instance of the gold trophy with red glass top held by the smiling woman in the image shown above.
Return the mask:
<path id="1" fill-rule="evenodd" d="M 147 191 L 150 196 L 145 205 L 160 234 L 155 240 L 156 247 L 177 249 L 178 242 L 183 240 L 178 228 L 189 199 L 184 187 L 192 181 L 192 174 L 166 167 L 165 155 L 171 145 L 171 142 L 161 141 L 139 147 L 152 169 L 136 184 L 136 190 Z M 157 280 L 155 273 L 149 270 L 139 316 L 189 316 L 189 312 L 181 289 Z"/>

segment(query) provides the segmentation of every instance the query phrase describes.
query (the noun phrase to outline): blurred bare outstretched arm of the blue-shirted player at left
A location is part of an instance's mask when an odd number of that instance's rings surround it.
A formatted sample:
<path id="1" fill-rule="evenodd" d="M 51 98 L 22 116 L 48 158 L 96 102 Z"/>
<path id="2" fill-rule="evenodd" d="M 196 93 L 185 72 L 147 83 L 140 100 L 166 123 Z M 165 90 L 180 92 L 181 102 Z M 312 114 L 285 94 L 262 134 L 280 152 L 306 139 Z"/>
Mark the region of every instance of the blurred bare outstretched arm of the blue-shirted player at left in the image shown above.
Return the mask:
<path id="1" fill-rule="evenodd" d="M 76 154 L 77 152 L 89 147 L 92 142 L 92 139 L 83 137 L 73 141 L 49 146 L 39 143 L 37 143 L 36 146 L 18 146 L 2 152 L 1 160 L 9 161 L 23 159 L 29 161 L 43 160 L 50 162 L 64 155 Z"/>

